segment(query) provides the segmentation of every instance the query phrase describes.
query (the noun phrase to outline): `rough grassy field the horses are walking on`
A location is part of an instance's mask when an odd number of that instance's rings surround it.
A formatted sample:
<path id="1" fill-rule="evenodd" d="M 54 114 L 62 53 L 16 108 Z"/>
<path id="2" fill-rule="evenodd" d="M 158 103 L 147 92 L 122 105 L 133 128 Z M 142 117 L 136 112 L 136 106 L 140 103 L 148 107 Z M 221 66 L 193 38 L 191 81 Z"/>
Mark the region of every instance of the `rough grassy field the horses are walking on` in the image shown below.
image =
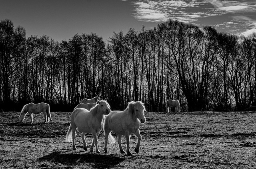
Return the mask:
<path id="1" fill-rule="evenodd" d="M 138 154 L 137 138 L 131 136 L 132 156 L 120 154 L 117 143 L 108 144 L 104 154 L 103 132 L 98 138 L 101 154 L 83 150 L 79 131 L 74 151 L 72 143 L 65 142 L 71 112 L 51 115 L 52 123 L 43 123 L 39 114 L 30 124 L 28 115 L 20 123 L 19 112 L 0 112 L 1 169 L 256 168 L 256 112 L 146 112 Z M 91 134 L 86 141 L 90 147 Z M 123 148 L 125 143 L 123 137 Z"/>

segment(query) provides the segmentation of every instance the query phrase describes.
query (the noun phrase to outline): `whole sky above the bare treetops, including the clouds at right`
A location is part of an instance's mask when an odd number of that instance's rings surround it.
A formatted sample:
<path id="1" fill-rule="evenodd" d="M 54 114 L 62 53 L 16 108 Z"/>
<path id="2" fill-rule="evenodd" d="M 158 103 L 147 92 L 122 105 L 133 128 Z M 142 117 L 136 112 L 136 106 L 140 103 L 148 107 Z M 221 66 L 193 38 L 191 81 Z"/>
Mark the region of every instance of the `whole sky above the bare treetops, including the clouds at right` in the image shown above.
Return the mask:
<path id="1" fill-rule="evenodd" d="M 152 29 L 168 19 L 248 36 L 256 32 L 256 0 L 0 0 L 5 19 L 25 28 L 27 37 L 59 42 L 82 33 L 107 41 L 114 32 Z"/>

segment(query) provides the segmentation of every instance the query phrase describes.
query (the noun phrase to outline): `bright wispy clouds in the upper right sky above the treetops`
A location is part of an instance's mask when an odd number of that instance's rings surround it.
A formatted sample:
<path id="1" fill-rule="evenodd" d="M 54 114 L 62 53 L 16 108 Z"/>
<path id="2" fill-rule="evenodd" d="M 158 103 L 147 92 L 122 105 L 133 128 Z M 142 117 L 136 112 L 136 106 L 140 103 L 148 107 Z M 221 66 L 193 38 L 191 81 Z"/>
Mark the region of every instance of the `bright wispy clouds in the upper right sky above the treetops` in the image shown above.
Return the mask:
<path id="1" fill-rule="evenodd" d="M 205 25 L 236 34 L 256 29 L 255 0 L 133 0 L 133 17 L 144 22 L 165 22 L 168 19 Z M 247 18 L 246 18 L 247 17 Z M 204 22 L 206 20 L 204 19 Z"/>

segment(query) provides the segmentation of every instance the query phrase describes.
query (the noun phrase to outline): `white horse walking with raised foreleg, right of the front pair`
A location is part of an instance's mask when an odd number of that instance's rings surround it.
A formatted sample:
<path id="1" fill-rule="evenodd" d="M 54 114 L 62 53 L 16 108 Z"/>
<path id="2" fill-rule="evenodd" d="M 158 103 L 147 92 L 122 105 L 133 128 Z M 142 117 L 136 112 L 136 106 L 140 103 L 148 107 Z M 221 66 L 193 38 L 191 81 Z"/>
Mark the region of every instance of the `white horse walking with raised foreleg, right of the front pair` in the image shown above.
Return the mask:
<path id="1" fill-rule="evenodd" d="M 125 135 L 127 155 L 132 155 L 129 149 L 131 134 L 135 134 L 138 137 L 138 142 L 134 151 L 136 153 L 139 152 L 141 140 L 139 130 L 140 122 L 144 123 L 146 121 L 144 112 L 146 112 L 146 110 L 142 102 L 131 101 L 129 102 L 127 108 L 124 111 L 112 111 L 108 116 L 106 116 L 106 119 L 103 123 L 103 130 L 105 135 L 105 153 L 108 153 L 107 141 L 109 141 L 110 143 L 115 142 L 115 139 L 110 133 L 111 131 L 118 134 L 118 145 L 120 153 L 125 154 L 121 145 L 122 135 Z"/>

